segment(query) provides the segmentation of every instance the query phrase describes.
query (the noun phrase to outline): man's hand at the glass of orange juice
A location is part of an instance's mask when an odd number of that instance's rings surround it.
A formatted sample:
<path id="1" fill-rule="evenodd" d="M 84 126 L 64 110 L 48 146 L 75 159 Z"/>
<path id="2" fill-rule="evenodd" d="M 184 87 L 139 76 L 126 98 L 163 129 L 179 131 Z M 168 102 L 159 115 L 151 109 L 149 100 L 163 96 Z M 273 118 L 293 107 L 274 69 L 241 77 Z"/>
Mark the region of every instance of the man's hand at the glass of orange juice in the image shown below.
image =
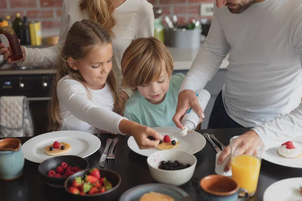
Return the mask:
<path id="1" fill-rule="evenodd" d="M 233 144 L 234 147 L 241 147 L 239 149 L 238 154 L 247 154 L 247 155 L 255 155 L 257 156 L 257 148 L 263 146 L 262 140 L 258 136 L 258 134 L 250 130 L 244 134 L 242 134 L 239 138 L 235 139 Z M 217 164 L 220 165 L 226 159 L 226 157 L 231 154 L 230 145 L 226 146 L 220 156 L 218 157 Z M 231 157 L 228 163 L 225 164 L 224 172 L 228 172 L 231 169 Z"/>

